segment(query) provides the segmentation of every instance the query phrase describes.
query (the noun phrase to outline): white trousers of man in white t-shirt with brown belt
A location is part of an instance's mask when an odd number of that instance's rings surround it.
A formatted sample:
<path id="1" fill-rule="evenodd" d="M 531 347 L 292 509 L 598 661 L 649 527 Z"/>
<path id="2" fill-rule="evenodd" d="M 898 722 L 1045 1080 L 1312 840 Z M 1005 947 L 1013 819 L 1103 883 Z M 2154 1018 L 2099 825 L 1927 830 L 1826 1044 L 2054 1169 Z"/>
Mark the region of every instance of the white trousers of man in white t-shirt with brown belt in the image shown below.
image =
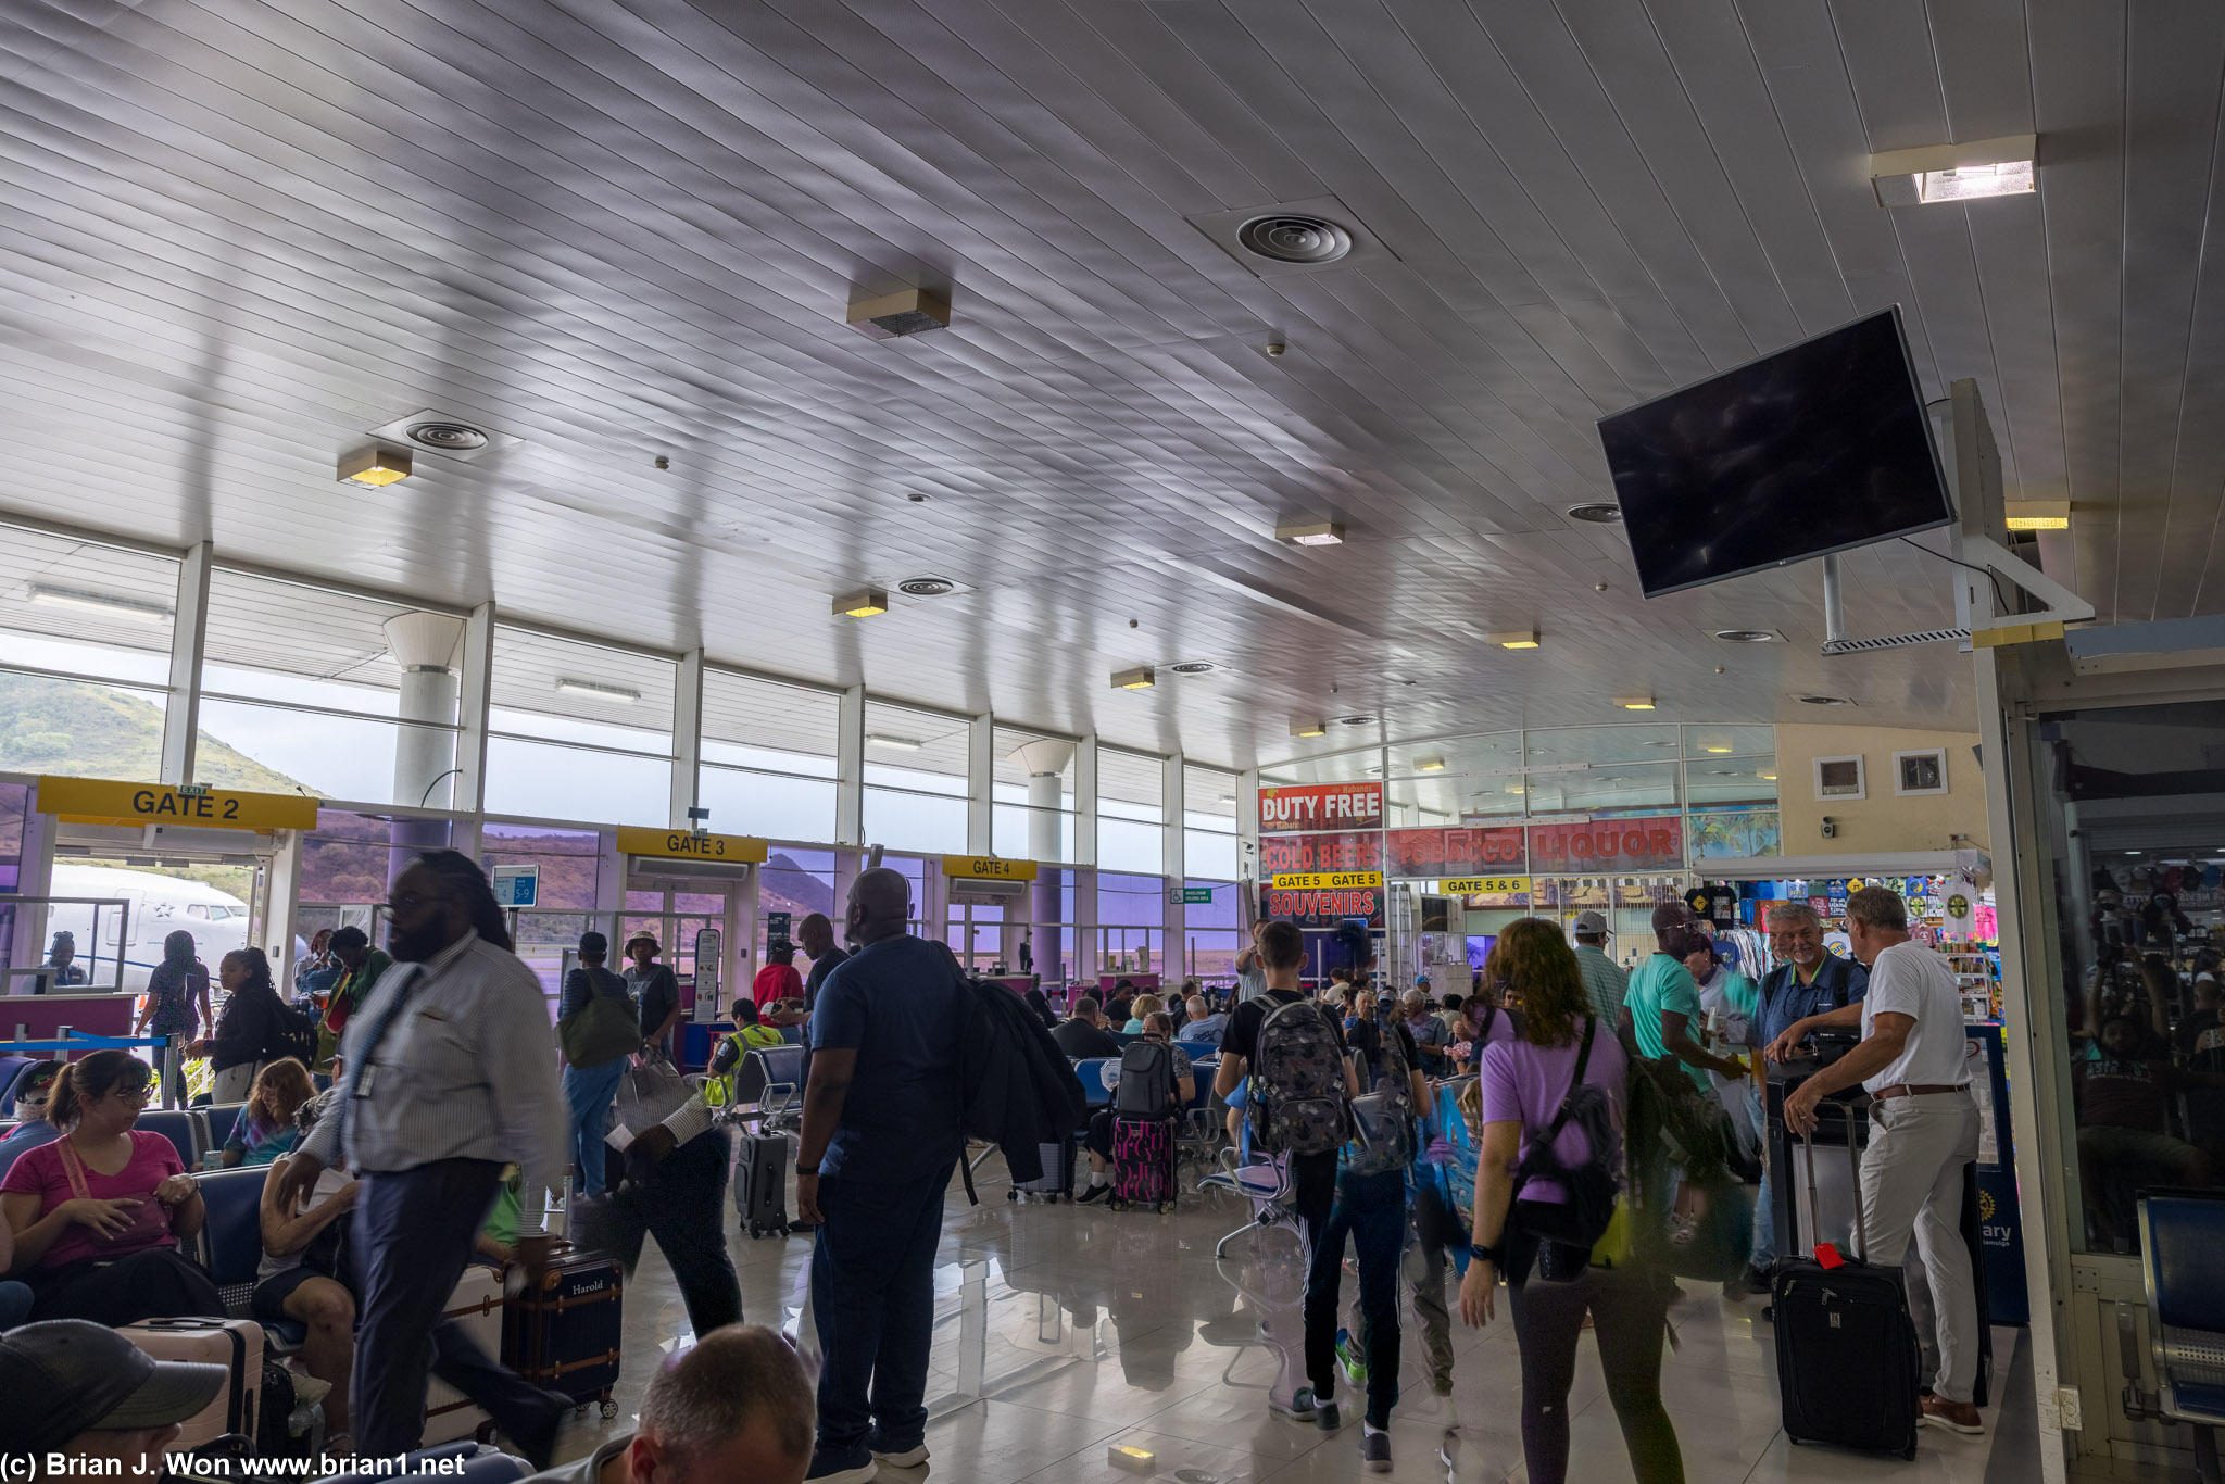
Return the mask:
<path id="1" fill-rule="evenodd" d="M 1978 1286 L 1962 1244 L 1962 1166 L 1978 1157 L 1978 1104 L 1969 1092 L 1916 1092 L 1869 1108 L 1862 1150 L 1865 1257 L 1898 1268 L 1916 1239 L 1931 1290 L 1931 1339 L 1938 1357 L 1931 1388 L 1969 1402 L 1978 1384 Z M 1922 1304 L 1911 1313 L 1922 1326 Z"/>

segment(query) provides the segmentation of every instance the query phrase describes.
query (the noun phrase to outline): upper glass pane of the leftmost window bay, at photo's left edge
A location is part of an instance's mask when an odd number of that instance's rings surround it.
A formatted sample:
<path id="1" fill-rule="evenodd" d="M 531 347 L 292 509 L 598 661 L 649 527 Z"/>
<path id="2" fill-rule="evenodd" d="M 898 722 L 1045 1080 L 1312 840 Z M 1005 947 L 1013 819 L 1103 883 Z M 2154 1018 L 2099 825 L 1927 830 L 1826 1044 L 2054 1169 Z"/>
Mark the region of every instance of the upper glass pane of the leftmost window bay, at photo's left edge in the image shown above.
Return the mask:
<path id="1" fill-rule="evenodd" d="M 0 527 L 0 656 L 11 665 L 167 685 L 176 603 L 174 556 Z"/>

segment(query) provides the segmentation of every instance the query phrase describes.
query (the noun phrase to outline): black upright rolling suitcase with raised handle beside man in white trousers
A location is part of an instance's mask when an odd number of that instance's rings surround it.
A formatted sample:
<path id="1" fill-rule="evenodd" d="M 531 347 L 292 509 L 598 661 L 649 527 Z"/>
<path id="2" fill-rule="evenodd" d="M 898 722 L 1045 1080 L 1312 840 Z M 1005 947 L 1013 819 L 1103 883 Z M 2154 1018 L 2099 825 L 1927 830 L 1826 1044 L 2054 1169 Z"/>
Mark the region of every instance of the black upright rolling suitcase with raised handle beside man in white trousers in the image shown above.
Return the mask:
<path id="1" fill-rule="evenodd" d="M 1853 1110 L 1847 1119 L 1847 1157 L 1856 1161 L 1853 1239 L 1865 1253 L 1860 1199 L 1860 1135 Z M 1809 1230 L 1816 1215 L 1816 1146 L 1800 1141 L 1807 1159 Z M 1900 1268 L 1873 1268 L 1847 1259 L 1827 1268 L 1809 1257 L 1778 1262 L 1771 1279 L 1778 1328 L 1778 1393 L 1784 1402 L 1784 1435 L 1793 1442 L 1829 1442 L 1916 1457 L 1916 1386 L 1922 1357 Z"/>

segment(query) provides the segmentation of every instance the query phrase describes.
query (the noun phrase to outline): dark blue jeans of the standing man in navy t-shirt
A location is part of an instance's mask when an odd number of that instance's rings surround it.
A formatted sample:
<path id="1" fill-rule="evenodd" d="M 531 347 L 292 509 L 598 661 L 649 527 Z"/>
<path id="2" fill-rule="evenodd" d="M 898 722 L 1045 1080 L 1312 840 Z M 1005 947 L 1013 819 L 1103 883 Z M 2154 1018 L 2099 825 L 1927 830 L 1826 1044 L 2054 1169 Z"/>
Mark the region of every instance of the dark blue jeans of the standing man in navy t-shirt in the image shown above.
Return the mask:
<path id="1" fill-rule="evenodd" d="M 934 1244 L 957 1166 L 903 1181 L 819 1181 L 825 1224 L 812 1244 L 819 1319 L 814 1466 L 863 1468 L 872 1453 L 917 1448 L 928 1431 L 934 1339 Z"/>

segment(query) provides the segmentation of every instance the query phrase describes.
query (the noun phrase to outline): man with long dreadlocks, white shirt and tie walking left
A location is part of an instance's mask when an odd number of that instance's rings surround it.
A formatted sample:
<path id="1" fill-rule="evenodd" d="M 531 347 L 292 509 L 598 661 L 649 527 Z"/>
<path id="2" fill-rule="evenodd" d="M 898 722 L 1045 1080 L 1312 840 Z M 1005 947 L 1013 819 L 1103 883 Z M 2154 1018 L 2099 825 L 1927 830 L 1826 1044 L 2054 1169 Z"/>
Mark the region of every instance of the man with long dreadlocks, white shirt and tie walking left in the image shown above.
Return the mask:
<path id="1" fill-rule="evenodd" d="M 327 1166 L 345 1161 L 363 1177 L 349 1233 L 360 1455 L 418 1446 L 429 1368 L 547 1468 L 572 1399 L 512 1375 L 441 1315 L 503 1166 L 518 1164 L 532 1206 L 563 1170 L 547 1003 L 469 857 L 427 850 L 394 881 L 387 910 L 396 963 L 347 1021 L 334 1112 L 287 1161 L 278 1206 L 291 1210 Z M 518 1259 L 538 1286 L 547 1237 L 521 1235 Z"/>

